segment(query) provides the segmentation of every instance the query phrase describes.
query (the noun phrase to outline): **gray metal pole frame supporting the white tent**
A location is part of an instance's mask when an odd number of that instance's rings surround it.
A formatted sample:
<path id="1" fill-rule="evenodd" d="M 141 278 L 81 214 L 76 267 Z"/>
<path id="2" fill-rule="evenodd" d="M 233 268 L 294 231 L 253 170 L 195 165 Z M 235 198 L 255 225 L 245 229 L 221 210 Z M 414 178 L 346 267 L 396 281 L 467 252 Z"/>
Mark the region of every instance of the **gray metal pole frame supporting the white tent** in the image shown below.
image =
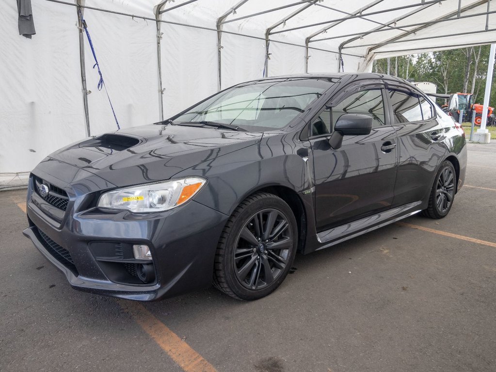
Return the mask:
<path id="1" fill-rule="evenodd" d="M 171 0 L 162 0 L 154 7 L 155 18 L 140 16 L 140 15 L 135 15 L 135 14 L 129 14 L 129 13 L 124 13 L 124 12 L 118 12 L 118 11 L 113 11 L 113 10 L 108 10 L 108 9 L 102 9 L 102 8 L 97 8 L 97 7 L 92 7 L 92 6 L 86 6 L 86 5 L 82 4 L 82 2 L 83 2 L 82 0 L 77 0 L 76 3 L 71 3 L 71 2 L 67 2 L 67 1 L 63 1 L 63 0 L 47 0 L 47 1 L 57 2 L 57 3 L 65 4 L 65 5 L 76 6 L 81 10 L 86 8 L 86 9 L 97 10 L 97 11 L 102 11 L 102 12 L 107 12 L 107 13 L 113 13 L 113 14 L 132 17 L 132 18 L 151 20 L 151 21 L 156 22 L 157 70 L 158 70 L 157 84 L 158 84 L 158 91 L 159 91 L 158 92 L 159 93 L 159 117 L 161 120 L 163 120 L 163 118 L 164 118 L 164 105 L 163 105 L 164 88 L 162 85 L 162 63 L 161 63 L 161 39 L 162 39 L 162 35 L 163 35 L 161 32 L 161 24 L 162 23 L 184 26 L 184 27 L 191 27 L 191 28 L 208 30 L 208 31 L 214 31 L 217 33 L 217 50 L 218 50 L 217 64 L 218 64 L 218 89 L 219 90 L 222 88 L 222 74 L 221 74 L 222 73 L 222 64 L 221 64 L 222 63 L 222 48 L 223 48 L 221 45 L 222 34 L 230 34 L 230 35 L 247 37 L 247 38 L 256 39 L 256 40 L 263 40 L 265 42 L 265 65 L 264 65 L 265 66 L 265 74 L 264 74 L 264 76 L 267 77 L 269 75 L 268 74 L 268 70 L 269 70 L 268 60 L 269 60 L 269 55 L 270 55 L 270 53 L 269 53 L 270 43 L 279 43 L 279 44 L 284 44 L 284 45 L 291 45 L 291 46 L 305 48 L 305 72 L 308 72 L 308 60 L 310 58 L 310 55 L 309 55 L 310 50 L 319 50 L 319 51 L 323 51 L 323 52 L 338 54 L 338 60 L 341 63 L 343 55 L 350 55 L 350 56 L 356 56 L 356 57 L 361 57 L 361 58 L 366 58 L 366 59 L 369 58 L 370 59 L 373 57 L 371 54 L 373 51 L 376 51 L 376 49 L 383 47 L 385 45 L 388 45 L 388 44 L 396 44 L 396 43 L 404 43 L 404 42 L 416 42 L 416 41 L 428 40 L 428 39 L 440 39 L 440 38 L 445 38 L 445 37 L 450 37 L 450 36 L 461 36 L 461 35 L 484 33 L 484 32 L 488 32 L 488 31 L 496 31 L 496 29 L 489 29 L 489 15 L 496 13 L 496 11 L 490 11 L 490 0 L 477 1 L 475 3 L 467 5 L 465 7 L 462 7 L 461 6 L 461 0 L 458 0 L 458 9 L 454 12 L 451 12 L 451 13 L 444 15 L 438 19 L 435 19 L 435 20 L 430 20 L 430 21 L 426 21 L 426 22 L 418 22 L 418 23 L 413 23 L 413 24 L 409 24 L 409 25 L 401 25 L 401 26 L 397 26 L 396 23 L 400 20 L 411 17 L 413 14 L 416 14 L 419 11 L 426 9 L 429 6 L 437 4 L 437 3 L 441 2 L 442 0 L 420 0 L 420 2 L 417 2 L 417 3 L 398 6 L 398 7 L 389 8 L 389 9 L 378 10 L 378 11 L 370 11 L 368 13 L 364 13 L 364 11 L 372 8 L 373 6 L 377 5 L 378 3 L 380 3 L 384 0 L 371 1 L 370 3 L 366 4 L 362 8 L 360 8 L 360 9 L 358 9 L 352 13 L 348 13 L 347 11 L 344 11 L 344 10 L 340 10 L 340 9 L 332 8 L 332 7 L 323 5 L 323 4 L 319 4 L 320 0 L 300 0 L 298 2 L 292 2 L 290 4 L 278 6 L 275 8 L 266 9 L 264 11 L 248 14 L 248 15 L 245 15 L 242 17 L 228 19 L 230 15 L 236 14 L 236 10 L 238 8 L 240 8 L 243 4 L 245 4 L 247 1 L 249 1 L 249 0 L 240 0 L 236 5 L 234 5 L 230 9 L 226 10 L 224 13 L 222 13 L 222 15 L 220 17 L 217 18 L 215 28 L 197 26 L 197 25 L 180 23 L 180 22 L 172 22 L 172 21 L 167 21 L 167 20 L 162 19 L 162 15 L 164 13 L 167 13 L 167 12 L 172 11 L 174 9 L 178 9 L 182 6 L 196 2 L 198 0 L 187 0 L 183 3 L 177 4 L 174 6 L 170 6 L 168 8 L 166 8 L 166 5 L 167 5 L 167 3 L 171 2 Z M 444 1 L 446 1 L 446 0 L 444 0 Z M 462 13 L 464 11 L 472 9 L 474 7 L 477 7 L 477 6 L 480 6 L 481 4 L 483 4 L 485 2 L 487 2 L 487 4 L 488 4 L 486 12 L 481 12 L 481 13 L 477 13 L 477 14 L 462 15 Z M 284 25 L 286 23 L 286 21 L 293 18 L 297 14 L 302 13 L 305 10 L 309 9 L 312 5 L 321 6 L 321 7 L 327 8 L 327 9 L 332 10 L 332 11 L 340 12 L 342 14 L 346 14 L 346 16 L 341 17 L 341 18 L 335 18 L 335 19 L 327 20 L 324 22 L 304 24 L 304 25 L 301 25 L 298 27 L 293 27 L 293 28 L 275 31 L 275 29 L 277 27 Z M 262 15 L 262 14 L 270 13 L 273 11 L 290 8 L 290 7 L 295 7 L 295 6 L 298 6 L 298 8 L 296 10 L 292 11 L 287 16 L 279 19 L 272 26 L 268 27 L 265 30 L 265 35 L 263 38 L 253 36 L 253 35 L 247 35 L 247 34 L 223 30 L 224 24 L 236 22 L 236 21 L 251 18 L 251 17 L 256 17 L 258 15 Z M 372 15 L 382 14 L 382 13 L 387 13 L 387 12 L 397 11 L 397 10 L 404 10 L 404 9 L 413 8 L 413 7 L 418 7 L 418 8 L 414 9 L 413 11 L 408 12 L 407 14 L 404 14 L 398 18 L 395 18 L 395 19 L 391 20 L 390 22 L 382 23 L 382 22 L 374 21 L 372 19 L 368 19 L 368 17 L 372 16 Z M 456 17 L 453 18 L 454 16 L 456 16 Z M 430 27 L 434 24 L 440 23 L 440 22 L 452 21 L 452 20 L 456 20 L 456 19 L 469 18 L 469 17 L 477 17 L 477 16 L 486 16 L 486 27 L 485 27 L 484 31 L 481 30 L 481 31 L 471 31 L 471 32 L 464 32 L 464 33 L 452 33 L 452 34 L 442 35 L 442 36 L 433 36 L 433 37 L 423 37 L 423 38 L 416 38 L 416 39 L 409 39 L 409 40 L 401 40 L 401 39 L 404 39 L 411 34 L 416 33 L 419 30 L 428 28 L 428 27 Z M 369 22 L 377 23 L 378 26 L 373 28 L 372 30 L 368 30 L 365 32 L 358 32 L 358 33 L 352 33 L 352 34 L 347 34 L 347 35 L 339 35 L 339 36 L 332 36 L 332 37 L 327 37 L 327 38 L 315 39 L 315 37 L 317 35 L 320 35 L 322 33 L 326 33 L 328 30 L 337 26 L 338 24 L 341 24 L 341 23 L 343 23 L 349 19 L 354 19 L 354 18 L 361 18 L 361 19 L 364 19 L 364 20 L 369 21 Z M 79 26 L 81 26 L 80 23 L 81 23 L 81 20 L 78 19 Z M 319 29 L 318 31 L 312 33 L 310 36 L 308 36 L 305 39 L 304 45 L 270 39 L 270 36 L 272 36 L 272 35 L 290 32 L 290 31 L 294 31 L 294 30 L 300 30 L 300 29 L 314 27 L 314 26 L 319 26 L 319 25 L 324 25 L 324 27 Z M 415 29 L 407 30 L 408 28 L 411 28 L 411 27 L 415 27 Z M 387 41 L 383 41 L 380 43 L 371 43 L 371 44 L 360 45 L 360 46 L 346 46 L 346 45 L 352 43 L 353 41 L 363 39 L 364 37 L 366 37 L 370 34 L 377 33 L 377 32 L 384 32 L 384 31 L 391 31 L 391 30 L 400 30 L 400 31 L 403 31 L 403 33 L 400 35 L 397 35 L 395 37 L 392 37 Z M 86 92 L 86 76 L 85 76 L 85 63 L 84 63 L 84 43 L 83 43 L 83 40 L 81 40 L 81 36 L 82 36 L 82 34 L 80 34 L 80 40 L 79 40 L 79 54 L 80 54 L 80 62 L 81 62 L 81 82 L 82 82 L 82 89 L 83 89 L 83 103 L 84 103 L 84 111 L 85 111 L 86 130 L 87 130 L 87 133 L 89 134 L 90 127 L 89 127 L 88 103 L 87 103 L 87 97 L 86 97 L 87 92 Z M 325 40 L 332 40 L 332 39 L 342 39 L 345 37 L 352 37 L 352 38 L 341 43 L 341 45 L 338 49 L 338 52 L 326 50 L 323 48 L 310 47 L 310 43 L 315 43 L 315 42 L 325 41 Z M 471 44 L 449 45 L 448 47 L 449 48 L 456 48 L 456 47 L 463 47 L 463 46 L 467 46 L 467 45 L 485 45 L 485 44 L 490 44 L 490 43 L 492 43 L 492 41 L 486 41 L 486 42 L 481 42 L 481 43 L 471 43 Z M 353 49 L 353 48 L 359 48 L 359 47 L 364 47 L 364 46 L 372 47 L 367 51 L 366 55 L 358 55 L 358 54 L 353 54 L 353 53 L 343 53 L 344 49 Z M 438 50 L 438 49 L 444 49 L 444 48 L 439 47 L 439 46 L 427 48 L 427 50 Z M 401 52 L 408 52 L 408 51 L 414 51 L 414 50 L 426 50 L 426 48 L 425 47 L 423 47 L 423 48 L 409 48 L 409 49 L 403 49 L 403 50 L 398 49 L 398 50 L 394 50 L 394 51 L 382 51 L 382 52 L 379 50 L 379 51 L 373 52 L 373 54 L 401 53 Z M 340 67 L 339 67 L 339 70 L 340 70 Z"/>

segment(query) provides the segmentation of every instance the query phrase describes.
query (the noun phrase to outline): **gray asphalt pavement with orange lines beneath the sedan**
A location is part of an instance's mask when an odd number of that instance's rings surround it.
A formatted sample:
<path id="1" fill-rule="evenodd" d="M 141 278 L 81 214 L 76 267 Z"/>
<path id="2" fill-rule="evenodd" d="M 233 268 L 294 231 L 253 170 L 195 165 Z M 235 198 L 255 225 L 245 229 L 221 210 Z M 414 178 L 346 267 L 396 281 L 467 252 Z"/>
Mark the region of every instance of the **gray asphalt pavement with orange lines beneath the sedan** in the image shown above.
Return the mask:
<path id="1" fill-rule="evenodd" d="M 138 304 L 75 291 L 0 192 L 0 371 L 496 371 L 496 143 L 469 144 L 446 218 L 296 257 L 255 302 L 213 288 Z"/>

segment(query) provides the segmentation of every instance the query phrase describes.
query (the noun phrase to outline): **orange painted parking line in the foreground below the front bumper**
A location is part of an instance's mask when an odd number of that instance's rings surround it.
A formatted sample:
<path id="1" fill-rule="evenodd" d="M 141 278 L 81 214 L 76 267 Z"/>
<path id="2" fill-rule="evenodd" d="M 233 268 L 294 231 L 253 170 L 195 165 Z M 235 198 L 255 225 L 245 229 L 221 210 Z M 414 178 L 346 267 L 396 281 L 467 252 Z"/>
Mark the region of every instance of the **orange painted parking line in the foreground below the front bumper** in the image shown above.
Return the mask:
<path id="1" fill-rule="evenodd" d="M 143 330 L 185 372 L 216 372 L 215 368 L 194 351 L 185 341 L 164 323 L 137 302 L 117 300 L 125 312 L 130 314 Z"/>

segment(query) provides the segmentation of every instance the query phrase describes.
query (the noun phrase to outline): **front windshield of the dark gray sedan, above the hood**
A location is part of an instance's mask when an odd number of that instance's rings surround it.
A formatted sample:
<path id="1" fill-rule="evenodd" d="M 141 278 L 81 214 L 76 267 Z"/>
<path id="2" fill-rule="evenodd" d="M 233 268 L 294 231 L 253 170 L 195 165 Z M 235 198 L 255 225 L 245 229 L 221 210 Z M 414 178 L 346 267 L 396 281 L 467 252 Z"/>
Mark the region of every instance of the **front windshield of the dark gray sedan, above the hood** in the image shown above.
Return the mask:
<path id="1" fill-rule="evenodd" d="M 172 119 L 179 125 L 213 122 L 253 132 L 280 129 L 305 112 L 335 81 L 286 78 L 250 82 L 220 92 Z"/>

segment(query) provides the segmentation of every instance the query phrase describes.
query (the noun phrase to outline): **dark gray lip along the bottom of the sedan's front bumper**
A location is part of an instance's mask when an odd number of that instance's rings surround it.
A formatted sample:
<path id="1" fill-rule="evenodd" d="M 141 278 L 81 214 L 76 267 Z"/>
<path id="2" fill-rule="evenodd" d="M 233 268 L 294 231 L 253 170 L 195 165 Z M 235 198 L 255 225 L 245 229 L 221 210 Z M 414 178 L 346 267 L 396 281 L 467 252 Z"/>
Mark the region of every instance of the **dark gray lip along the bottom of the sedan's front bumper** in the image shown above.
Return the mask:
<path id="1" fill-rule="evenodd" d="M 27 229 L 22 231 L 22 233 L 33 242 L 34 246 L 41 252 L 43 256 L 45 256 L 48 261 L 50 261 L 55 267 L 57 267 L 64 273 L 72 288 L 84 292 L 91 292 L 99 295 L 118 297 L 134 301 L 154 301 L 158 297 L 160 297 L 159 284 L 146 287 L 137 287 L 118 284 L 111 281 L 85 278 L 83 276 L 75 276 L 71 270 L 63 266 L 45 249 L 43 244 L 34 233 L 34 228 L 34 226 L 28 227 Z"/>

